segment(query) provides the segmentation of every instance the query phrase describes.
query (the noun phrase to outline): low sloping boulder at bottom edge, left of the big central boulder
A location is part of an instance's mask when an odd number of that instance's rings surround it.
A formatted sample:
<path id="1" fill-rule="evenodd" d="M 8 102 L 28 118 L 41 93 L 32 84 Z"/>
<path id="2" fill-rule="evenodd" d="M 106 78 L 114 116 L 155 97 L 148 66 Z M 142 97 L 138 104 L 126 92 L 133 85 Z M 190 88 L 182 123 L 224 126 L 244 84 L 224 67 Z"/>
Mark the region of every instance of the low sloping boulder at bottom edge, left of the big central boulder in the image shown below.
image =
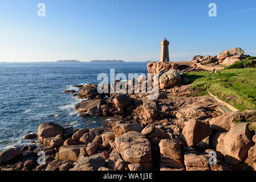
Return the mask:
<path id="1" fill-rule="evenodd" d="M 85 157 L 75 164 L 73 171 L 97 171 L 100 167 L 105 167 L 106 163 L 102 156 L 94 155 Z"/>

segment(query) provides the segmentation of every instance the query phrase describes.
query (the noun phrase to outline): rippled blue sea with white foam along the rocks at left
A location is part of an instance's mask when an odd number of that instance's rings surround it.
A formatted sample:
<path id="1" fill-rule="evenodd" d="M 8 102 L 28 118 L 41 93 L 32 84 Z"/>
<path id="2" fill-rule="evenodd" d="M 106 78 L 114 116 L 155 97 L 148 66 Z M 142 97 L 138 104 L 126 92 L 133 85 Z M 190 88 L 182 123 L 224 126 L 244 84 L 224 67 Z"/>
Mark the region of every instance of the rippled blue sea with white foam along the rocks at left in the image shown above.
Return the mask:
<path id="1" fill-rule="evenodd" d="M 36 133 L 42 122 L 76 128 L 106 125 L 107 118 L 79 117 L 82 100 L 64 93 L 74 85 L 97 84 L 97 75 L 147 73 L 147 63 L 0 63 L 0 151 L 28 144 L 24 134 Z"/>

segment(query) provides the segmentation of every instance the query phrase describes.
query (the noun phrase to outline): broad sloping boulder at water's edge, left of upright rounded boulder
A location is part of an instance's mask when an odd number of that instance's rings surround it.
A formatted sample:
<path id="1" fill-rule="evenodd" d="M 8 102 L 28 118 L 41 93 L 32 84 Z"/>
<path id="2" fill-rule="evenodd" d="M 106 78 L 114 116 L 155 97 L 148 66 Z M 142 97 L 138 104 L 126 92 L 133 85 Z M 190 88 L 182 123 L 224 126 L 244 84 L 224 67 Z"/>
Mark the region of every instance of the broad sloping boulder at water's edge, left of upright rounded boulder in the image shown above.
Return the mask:
<path id="1" fill-rule="evenodd" d="M 105 100 L 85 100 L 78 107 L 79 113 L 102 115 L 101 105 L 107 104 Z"/>

